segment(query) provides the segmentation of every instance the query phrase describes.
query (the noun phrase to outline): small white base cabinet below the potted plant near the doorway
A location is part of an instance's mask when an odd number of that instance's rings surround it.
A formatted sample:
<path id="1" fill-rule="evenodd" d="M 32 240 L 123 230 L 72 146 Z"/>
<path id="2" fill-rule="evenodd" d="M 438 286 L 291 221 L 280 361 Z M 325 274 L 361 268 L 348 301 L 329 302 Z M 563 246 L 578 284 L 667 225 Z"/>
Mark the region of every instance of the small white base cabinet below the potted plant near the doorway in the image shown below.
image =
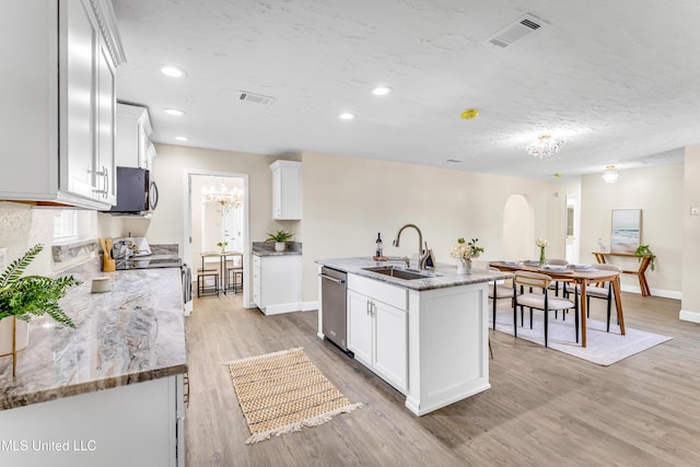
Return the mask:
<path id="1" fill-rule="evenodd" d="M 301 310 L 301 255 L 253 255 L 253 302 L 266 315 Z"/>

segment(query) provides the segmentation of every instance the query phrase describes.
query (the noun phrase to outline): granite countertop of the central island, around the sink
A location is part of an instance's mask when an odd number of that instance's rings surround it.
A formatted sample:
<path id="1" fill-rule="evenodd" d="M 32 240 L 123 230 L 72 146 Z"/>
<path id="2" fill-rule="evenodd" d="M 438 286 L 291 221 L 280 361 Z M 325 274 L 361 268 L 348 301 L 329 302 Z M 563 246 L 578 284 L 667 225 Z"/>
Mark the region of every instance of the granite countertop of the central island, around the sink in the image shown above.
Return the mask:
<path id="1" fill-rule="evenodd" d="M 467 285 L 479 282 L 490 282 L 499 279 L 508 279 L 513 277 L 510 272 L 489 271 L 486 269 L 474 268 L 471 275 L 460 276 L 457 275 L 456 265 L 445 265 L 438 262 L 434 269 L 428 269 L 425 272 L 431 277 L 425 279 L 399 279 L 390 276 L 381 275 L 378 272 L 366 271 L 363 268 L 371 268 L 377 266 L 392 266 L 397 269 L 406 269 L 402 261 L 375 261 L 371 257 L 357 257 L 357 258 L 334 258 L 334 259 L 317 259 L 316 262 L 322 266 L 327 266 L 332 269 L 338 269 L 348 273 L 362 276 L 365 278 L 378 280 L 394 285 L 402 287 L 410 290 L 433 290 L 445 289 L 448 287 Z M 409 268 L 415 271 L 417 268 L 415 265 Z"/>

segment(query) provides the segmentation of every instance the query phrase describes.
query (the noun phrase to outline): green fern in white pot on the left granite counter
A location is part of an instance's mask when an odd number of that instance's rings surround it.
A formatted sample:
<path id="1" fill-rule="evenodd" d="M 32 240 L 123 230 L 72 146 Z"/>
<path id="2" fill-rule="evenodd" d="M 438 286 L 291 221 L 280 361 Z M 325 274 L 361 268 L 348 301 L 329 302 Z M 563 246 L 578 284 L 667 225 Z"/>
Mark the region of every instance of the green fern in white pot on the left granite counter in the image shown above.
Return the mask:
<path id="1" fill-rule="evenodd" d="M 0 355 L 16 353 L 28 345 L 28 322 L 33 316 L 48 314 L 62 326 L 75 327 L 58 301 L 69 287 L 80 284 L 72 276 L 50 279 L 44 276 L 22 276 L 42 252 L 44 245 L 30 248 L 12 261 L 0 275 Z"/>

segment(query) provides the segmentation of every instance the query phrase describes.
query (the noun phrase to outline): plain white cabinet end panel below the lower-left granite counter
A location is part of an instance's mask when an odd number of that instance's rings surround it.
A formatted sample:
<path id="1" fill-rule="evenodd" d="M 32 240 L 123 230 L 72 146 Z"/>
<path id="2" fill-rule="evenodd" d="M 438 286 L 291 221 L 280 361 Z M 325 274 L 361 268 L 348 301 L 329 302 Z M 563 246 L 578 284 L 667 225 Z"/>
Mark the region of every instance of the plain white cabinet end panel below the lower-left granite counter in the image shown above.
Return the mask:
<path id="1" fill-rule="evenodd" d="M 184 418 L 182 375 L 0 410 L 0 464 L 184 466 Z"/>

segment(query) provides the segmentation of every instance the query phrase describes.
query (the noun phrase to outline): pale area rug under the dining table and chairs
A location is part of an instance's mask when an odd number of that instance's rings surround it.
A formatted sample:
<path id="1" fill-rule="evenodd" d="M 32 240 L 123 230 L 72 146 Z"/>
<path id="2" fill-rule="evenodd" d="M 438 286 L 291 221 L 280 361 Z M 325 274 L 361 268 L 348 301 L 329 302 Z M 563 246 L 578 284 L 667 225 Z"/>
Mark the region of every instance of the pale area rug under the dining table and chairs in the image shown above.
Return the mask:
<path id="1" fill-rule="evenodd" d="M 525 326 L 521 327 L 520 310 L 517 312 L 517 337 L 530 342 L 545 345 L 545 324 L 542 312 L 535 311 L 533 328 L 529 328 L 529 312 L 525 308 Z M 491 319 L 489 319 L 491 322 Z M 615 317 L 610 323 L 610 331 L 606 332 L 606 324 L 595 320 L 586 320 L 586 347 L 581 347 L 581 339 L 576 343 L 574 331 L 574 317 L 572 313 L 565 315 L 565 320 L 555 318 L 555 313 L 549 312 L 549 332 L 547 343 L 550 349 L 587 360 L 598 365 L 608 366 L 635 353 L 651 349 L 654 346 L 666 342 L 672 338 L 653 332 L 625 327 L 625 336 L 620 334 L 620 327 L 615 324 Z M 498 308 L 495 315 L 495 330 L 513 335 L 513 308 Z M 579 330 L 581 332 L 581 330 Z"/>

